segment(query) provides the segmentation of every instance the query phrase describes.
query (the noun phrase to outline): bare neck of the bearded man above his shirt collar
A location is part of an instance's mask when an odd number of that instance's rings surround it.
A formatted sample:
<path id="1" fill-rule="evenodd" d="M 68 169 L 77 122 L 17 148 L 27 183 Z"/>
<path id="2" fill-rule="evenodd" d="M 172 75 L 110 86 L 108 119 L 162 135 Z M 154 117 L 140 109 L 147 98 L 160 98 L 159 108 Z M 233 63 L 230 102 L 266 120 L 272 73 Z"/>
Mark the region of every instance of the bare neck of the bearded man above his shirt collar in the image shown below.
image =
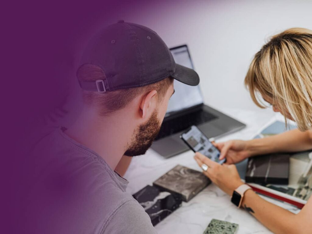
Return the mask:
<path id="1" fill-rule="evenodd" d="M 133 132 L 134 128 L 122 113 L 100 117 L 94 110 L 85 108 L 65 134 L 95 151 L 115 170 Z"/>

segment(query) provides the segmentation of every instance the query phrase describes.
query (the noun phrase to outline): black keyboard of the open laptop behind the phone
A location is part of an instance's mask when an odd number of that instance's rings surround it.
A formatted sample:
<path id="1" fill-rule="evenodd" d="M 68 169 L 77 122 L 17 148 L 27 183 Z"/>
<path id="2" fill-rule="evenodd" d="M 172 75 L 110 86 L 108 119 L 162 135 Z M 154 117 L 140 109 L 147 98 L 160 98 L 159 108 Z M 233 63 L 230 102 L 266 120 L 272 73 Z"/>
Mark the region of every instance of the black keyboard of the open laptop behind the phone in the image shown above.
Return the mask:
<path id="1" fill-rule="evenodd" d="M 209 112 L 198 110 L 177 118 L 163 121 L 159 134 L 155 140 L 181 132 L 192 125 L 202 124 L 216 118 L 217 116 L 212 115 Z"/>

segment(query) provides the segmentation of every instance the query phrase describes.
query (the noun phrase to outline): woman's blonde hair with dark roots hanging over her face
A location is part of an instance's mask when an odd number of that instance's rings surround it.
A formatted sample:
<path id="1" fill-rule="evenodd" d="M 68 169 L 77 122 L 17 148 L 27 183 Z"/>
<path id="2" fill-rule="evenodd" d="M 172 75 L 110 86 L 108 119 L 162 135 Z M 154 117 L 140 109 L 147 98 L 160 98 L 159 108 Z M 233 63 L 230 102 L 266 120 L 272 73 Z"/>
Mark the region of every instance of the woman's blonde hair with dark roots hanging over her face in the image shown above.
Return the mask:
<path id="1" fill-rule="evenodd" d="M 252 60 L 245 85 L 257 106 L 265 108 L 259 93 L 269 96 L 301 131 L 311 129 L 312 31 L 290 28 L 271 37 Z"/>

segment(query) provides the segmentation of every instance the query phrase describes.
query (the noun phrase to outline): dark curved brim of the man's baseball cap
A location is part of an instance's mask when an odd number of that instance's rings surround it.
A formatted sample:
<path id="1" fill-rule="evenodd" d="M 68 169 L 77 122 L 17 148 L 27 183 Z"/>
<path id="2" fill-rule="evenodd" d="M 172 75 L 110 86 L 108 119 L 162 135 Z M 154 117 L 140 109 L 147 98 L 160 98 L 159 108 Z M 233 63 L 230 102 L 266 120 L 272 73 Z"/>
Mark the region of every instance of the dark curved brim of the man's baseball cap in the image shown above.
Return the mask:
<path id="1" fill-rule="evenodd" d="M 179 64 L 177 64 L 177 68 L 171 76 L 187 85 L 196 86 L 199 84 L 199 76 L 197 72 Z"/>

